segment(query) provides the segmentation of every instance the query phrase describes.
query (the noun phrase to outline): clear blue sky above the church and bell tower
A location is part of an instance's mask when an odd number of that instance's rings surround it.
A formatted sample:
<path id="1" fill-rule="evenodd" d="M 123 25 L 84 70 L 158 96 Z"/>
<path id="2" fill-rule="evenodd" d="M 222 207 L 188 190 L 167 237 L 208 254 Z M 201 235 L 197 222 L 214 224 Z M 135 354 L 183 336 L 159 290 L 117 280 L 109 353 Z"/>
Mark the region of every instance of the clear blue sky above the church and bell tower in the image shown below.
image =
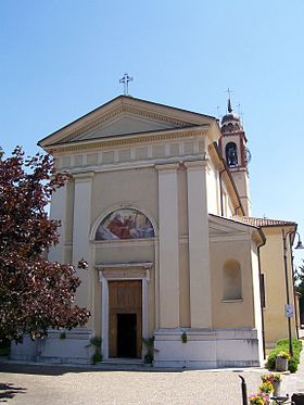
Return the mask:
<path id="1" fill-rule="evenodd" d="M 2 0 L 0 144 L 39 139 L 123 92 L 217 116 L 230 87 L 253 215 L 303 219 L 303 0 Z M 304 257 L 296 252 L 296 262 Z"/>

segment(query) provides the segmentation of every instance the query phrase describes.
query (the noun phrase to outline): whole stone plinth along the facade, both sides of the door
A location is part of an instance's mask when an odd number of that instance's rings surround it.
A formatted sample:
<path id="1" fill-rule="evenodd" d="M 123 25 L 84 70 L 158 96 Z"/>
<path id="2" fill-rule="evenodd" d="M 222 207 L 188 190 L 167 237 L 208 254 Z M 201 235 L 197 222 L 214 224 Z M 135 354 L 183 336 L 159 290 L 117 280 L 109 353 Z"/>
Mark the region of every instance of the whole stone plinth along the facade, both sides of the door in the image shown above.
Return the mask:
<path id="1" fill-rule="evenodd" d="M 186 332 L 187 342 L 181 336 Z M 50 330 L 48 338 L 33 342 L 28 337 L 23 344 L 12 344 L 14 360 L 52 364 L 90 364 L 94 347 L 89 329 Z M 159 329 L 155 331 L 155 367 L 207 369 L 218 367 L 258 367 L 258 339 L 255 329 Z M 119 363 L 119 359 L 116 359 Z"/>

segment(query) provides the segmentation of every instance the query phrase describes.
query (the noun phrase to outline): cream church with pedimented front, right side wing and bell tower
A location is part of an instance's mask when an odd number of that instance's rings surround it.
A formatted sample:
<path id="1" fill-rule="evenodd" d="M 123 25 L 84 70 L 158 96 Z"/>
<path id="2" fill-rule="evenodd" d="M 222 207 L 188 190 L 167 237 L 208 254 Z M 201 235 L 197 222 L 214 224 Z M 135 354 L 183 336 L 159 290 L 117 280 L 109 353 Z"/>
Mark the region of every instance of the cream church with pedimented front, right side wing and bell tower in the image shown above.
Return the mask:
<path id="1" fill-rule="evenodd" d="M 90 339 L 100 337 L 104 362 L 143 362 L 150 339 L 157 367 L 262 364 L 267 244 L 248 219 L 246 139 L 229 114 L 220 128 L 211 116 L 119 96 L 39 142 L 71 174 L 52 197 L 62 225 L 49 260 L 89 263 L 76 303 L 91 318 L 15 357 L 90 363 Z"/>

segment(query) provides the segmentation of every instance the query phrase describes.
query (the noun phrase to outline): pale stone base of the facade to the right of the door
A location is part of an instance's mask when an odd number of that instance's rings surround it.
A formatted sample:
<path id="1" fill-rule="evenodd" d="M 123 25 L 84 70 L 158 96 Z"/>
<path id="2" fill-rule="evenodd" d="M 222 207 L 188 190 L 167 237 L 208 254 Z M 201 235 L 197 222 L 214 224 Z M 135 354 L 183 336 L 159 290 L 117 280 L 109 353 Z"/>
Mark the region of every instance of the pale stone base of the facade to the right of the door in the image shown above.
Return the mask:
<path id="1" fill-rule="evenodd" d="M 181 341 L 183 332 L 186 343 Z M 159 329 L 154 347 L 155 367 L 206 369 L 262 364 L 255 329 Z"/>

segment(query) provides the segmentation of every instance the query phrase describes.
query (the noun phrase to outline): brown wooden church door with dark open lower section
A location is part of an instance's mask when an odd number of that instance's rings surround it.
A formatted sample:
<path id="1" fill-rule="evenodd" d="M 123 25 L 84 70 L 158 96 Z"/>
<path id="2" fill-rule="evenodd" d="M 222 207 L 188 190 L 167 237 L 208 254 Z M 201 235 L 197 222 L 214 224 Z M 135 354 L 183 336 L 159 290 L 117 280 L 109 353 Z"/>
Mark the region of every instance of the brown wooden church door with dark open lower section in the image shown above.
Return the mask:
<path id="1" fill-rule="evenodd" d="M 109 356 L 141 358 L 141 280 L 109 281 Z"/>

